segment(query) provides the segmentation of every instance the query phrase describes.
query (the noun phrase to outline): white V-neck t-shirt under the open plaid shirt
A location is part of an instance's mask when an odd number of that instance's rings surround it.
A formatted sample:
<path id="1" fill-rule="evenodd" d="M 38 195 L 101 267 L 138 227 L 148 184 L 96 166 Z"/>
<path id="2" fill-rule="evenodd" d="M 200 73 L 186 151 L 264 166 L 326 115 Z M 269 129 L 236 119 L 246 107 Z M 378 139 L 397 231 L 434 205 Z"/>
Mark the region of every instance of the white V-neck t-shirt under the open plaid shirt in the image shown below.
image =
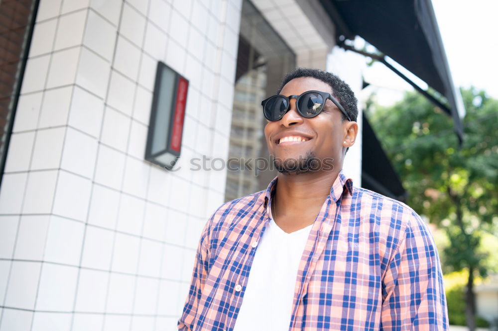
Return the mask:
<path id="1" fill-rule="evenodd" d="M 297 269 L 311 227 L 286 233 L 273 219 L 259 239 L 234 331 L 288 331 Z"/>

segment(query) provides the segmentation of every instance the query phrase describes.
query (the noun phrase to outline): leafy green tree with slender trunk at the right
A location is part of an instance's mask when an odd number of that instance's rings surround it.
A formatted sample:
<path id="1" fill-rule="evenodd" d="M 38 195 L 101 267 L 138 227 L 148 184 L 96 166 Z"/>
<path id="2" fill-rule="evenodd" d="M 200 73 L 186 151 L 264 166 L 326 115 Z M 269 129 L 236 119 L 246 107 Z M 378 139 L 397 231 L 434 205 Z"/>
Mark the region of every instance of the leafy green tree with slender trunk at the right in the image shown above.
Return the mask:
<path id="1" fill-rule="evenodd" d="M 407 203 L 446 230 L 445 272 L 468 270 L 467 326 L 475 330 L 474 278 L 494 266 L 480 248 L 483 231 L 498 229 L 498 100 L 462 90 L 466 107 L 459 148 L 450 116 L 416 92 L 366 114 L 409 193 Z M 443 258 L 442 258 L 443 259 Z"/>

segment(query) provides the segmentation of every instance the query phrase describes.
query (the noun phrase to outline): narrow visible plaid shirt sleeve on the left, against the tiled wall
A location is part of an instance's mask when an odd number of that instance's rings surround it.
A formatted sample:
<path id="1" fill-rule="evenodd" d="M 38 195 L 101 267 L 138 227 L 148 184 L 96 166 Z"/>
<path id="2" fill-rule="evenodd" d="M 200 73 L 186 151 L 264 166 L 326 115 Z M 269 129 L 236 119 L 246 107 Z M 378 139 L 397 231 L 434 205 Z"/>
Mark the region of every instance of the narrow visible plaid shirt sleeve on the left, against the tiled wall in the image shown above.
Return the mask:
<path id="1" fill-rule="evenodd" d="M 211 221 L 211 220 L 210 220 Z M 201 299 L 202 291 L 206 283 L 206 278 L 209 271 L 209 251 L 208 251 L 208 235 L 211 222 L 206 222 L 202 231 L 199 245 L 194 260 L 194 270 L 190 281 L 190 290 L 183 307 L 183 313 L 178 320 L 178 330 L 193 331 L 195 316 L 197 315 L 197 307 Z"/>

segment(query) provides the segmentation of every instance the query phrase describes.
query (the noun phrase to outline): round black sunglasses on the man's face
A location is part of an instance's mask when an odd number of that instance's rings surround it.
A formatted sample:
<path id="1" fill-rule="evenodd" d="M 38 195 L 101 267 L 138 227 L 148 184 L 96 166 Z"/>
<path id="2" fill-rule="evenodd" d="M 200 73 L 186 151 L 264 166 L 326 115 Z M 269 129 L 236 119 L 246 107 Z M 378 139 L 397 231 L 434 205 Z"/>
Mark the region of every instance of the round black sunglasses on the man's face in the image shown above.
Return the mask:
<path id="1" fill-rule="evenodd" d="M 301 95 L 273 95 L 269 98 L 261 101 L 261 106 L 263 106 L 264 117 L 268 121 L 278 121 L 285 115 L 290 109 L 290 99 L 296 99 L 296 108 L 298 113 L 306 118 L 312 118 L 320 114 L 320 112 L 325 107 L 325 101 L 330 99 L 334 104 L 342 111 L 344 116 L 351 121 L 344 107 L 341 106 L 339 101 L 337 101 L 332 94 L 320 91 L 306 91 Z"/>

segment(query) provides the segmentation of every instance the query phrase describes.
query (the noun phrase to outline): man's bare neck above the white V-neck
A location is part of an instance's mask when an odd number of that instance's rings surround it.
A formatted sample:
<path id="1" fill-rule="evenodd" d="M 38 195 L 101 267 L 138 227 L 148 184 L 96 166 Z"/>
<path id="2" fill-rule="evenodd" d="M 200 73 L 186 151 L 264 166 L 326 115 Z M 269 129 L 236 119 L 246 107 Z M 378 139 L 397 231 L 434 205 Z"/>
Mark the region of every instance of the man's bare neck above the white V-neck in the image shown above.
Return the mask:
<path id="1" fill-rule="evenodd" d="M 278 174 L 272 209 L 275 223 L 287 233 L 312 224 L 339 171 Z"/>

